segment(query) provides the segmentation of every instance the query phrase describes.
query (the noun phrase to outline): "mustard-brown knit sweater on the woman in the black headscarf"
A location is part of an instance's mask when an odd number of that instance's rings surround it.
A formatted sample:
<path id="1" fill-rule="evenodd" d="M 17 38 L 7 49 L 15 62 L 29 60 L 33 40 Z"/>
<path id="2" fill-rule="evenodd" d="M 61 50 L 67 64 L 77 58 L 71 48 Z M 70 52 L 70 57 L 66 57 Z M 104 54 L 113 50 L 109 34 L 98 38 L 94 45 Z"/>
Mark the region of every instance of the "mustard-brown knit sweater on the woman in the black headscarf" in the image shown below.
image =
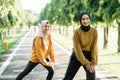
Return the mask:
<path id="1" fill-rule="evenodd" d="M 98 45 L 97 45 L 98 33 L 95 28 L 90 28 L 89 31 L 85 32 L 81 28 L 75 30 L 73 35 L 73 50 L 75 55 L 83 65 L 93 64 L 96 65 L 98 62 Z M 83 55 L 84 51 L 91 51 L 92 61 L 88 61 Z"/>

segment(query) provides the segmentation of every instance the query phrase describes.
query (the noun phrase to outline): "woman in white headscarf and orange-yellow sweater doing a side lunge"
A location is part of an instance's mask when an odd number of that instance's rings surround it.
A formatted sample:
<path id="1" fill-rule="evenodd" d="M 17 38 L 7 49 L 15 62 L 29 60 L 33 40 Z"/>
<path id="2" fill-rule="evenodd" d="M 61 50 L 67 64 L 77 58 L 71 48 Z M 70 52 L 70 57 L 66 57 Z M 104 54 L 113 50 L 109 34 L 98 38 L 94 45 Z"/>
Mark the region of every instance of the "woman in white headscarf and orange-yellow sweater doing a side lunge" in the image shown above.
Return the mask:
<path id="1" fill-rule="evenodd" d="M 17 76 L 16 80 L 22 80 L 39 63 L 48 70 L 46 80 L 52 80 L 55 57 L 50 35 L 50 23 L 47 20 L 41 22 L 39 32 L 33 42 L 33 52 L 30 60 L 24 71 Z"/>

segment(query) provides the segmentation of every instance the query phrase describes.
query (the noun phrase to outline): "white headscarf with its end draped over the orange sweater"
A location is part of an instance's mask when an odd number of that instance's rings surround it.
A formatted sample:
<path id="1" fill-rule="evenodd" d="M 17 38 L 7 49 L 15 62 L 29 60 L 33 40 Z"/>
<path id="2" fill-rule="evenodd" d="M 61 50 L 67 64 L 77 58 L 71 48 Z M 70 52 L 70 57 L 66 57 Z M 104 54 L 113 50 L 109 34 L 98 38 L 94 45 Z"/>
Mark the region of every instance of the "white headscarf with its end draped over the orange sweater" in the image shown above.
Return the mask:
<path id="1" fill-rule="evenodd" d="M 42 38 L 42 40 L 43 40 L 43 44 L 44 44 L 45 49 L 48 50 L 47 37 L 48 37 L 48 35 L 49 35 L 50 33 L 48 33 L 48 34 L 44 34 L 44 33 L 43 33 L 43 27 L 44 27 L 46 24 L 50 24 L 48 20 L 43 20 L 43 21 L 41 22 L 41 24 L 39 25 L 39 30 L 38 30 L 38 32 L 37 32 L 37 34 L 36 34 L 35 37 L 40 36 L 40 37 Z"/>

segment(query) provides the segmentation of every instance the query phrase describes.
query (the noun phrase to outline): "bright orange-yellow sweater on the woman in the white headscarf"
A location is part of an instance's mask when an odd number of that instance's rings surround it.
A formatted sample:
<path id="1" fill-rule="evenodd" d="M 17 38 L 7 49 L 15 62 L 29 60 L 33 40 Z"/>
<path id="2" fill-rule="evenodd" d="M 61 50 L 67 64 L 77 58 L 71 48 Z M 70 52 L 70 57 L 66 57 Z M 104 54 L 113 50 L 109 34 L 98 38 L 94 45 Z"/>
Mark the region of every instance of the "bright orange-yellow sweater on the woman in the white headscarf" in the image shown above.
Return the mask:
<path id="1" fill-rule="evenodd" d="M 33 44 L 33 52 L 30 56 L 30 61 L 48 66 L 46 58 L 50 57 L 51 61 L 55 63 L 54 51 L 51 41 L 51 36 L 47 37 L 48 41 L 48 50 L 45 49 L 43 40 L 41 37 L 36 37 Z"/>

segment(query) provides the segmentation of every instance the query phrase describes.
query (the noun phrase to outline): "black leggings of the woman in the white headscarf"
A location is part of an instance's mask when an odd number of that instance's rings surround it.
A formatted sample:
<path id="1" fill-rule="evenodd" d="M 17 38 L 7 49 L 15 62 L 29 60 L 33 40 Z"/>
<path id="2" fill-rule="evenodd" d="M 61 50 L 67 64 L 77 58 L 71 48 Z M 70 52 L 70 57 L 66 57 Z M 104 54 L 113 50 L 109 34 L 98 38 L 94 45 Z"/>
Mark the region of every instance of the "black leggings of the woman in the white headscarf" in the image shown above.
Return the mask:
<path id="1" fill-rule="evenodd" d="M 49 59 L 46 59 L 47 61 L 49 61 Z M 32 69 L 38 65 L 39 63 L 33 63 L 31 61 L 28 62 L 26 68 L 24 69 L 24 71 L 22 71 L 16 78 L 16 80 L 22 80 L 28 73 L 30 73 L 32 71 Z M 44 66 L 44 65 L 43 65 Z M 50 66 L 44 66 L 47 70 L 48 70 L 48 75 L 46 80 L 52 80 L 52 77 L 54 75 L 54 70 L 52 67 Z"/>

